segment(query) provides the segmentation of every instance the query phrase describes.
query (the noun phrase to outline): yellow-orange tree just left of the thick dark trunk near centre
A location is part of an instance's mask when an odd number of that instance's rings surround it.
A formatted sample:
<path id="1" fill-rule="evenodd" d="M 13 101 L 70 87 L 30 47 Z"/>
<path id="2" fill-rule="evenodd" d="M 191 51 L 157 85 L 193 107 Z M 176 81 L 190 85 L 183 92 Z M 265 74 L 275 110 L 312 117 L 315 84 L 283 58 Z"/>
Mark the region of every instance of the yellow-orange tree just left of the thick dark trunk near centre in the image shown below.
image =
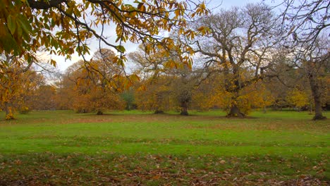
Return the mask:
<path id="1" fill-rule="evenodd" d="M 171 108 L 169 68 L 176 66 L 169 51 L 157 47 L 157 52 L 148 54 L 148 45 L 140 45 L 138 51 L 129 54 L 129 58 L 136 64 L 136 73 L 142 81 L 138 87 L 137 104 L 142 110 L 153 110 L 154 113 L 164 113 Z"/>

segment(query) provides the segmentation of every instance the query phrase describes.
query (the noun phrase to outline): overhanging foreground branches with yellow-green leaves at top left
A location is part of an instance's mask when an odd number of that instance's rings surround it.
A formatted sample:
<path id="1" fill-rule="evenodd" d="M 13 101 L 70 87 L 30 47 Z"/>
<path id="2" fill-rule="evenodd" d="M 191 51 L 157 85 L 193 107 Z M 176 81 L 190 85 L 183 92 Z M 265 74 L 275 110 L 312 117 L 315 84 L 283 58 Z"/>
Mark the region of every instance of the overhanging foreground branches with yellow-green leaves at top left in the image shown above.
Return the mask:
<path id="1" fill-rule="evenodd" d="M 71 58 L 90 52 L 87 40 L 95 37 L 118 51 L 116 62 L 123 64 L 125 42 L 157 43 L 169 46 L 171 39 L 162 31 L 181 30 L 189 18 L 207 13 L 204 3 L 191 1 L 99 1 L 99 0 L 4 0 L 0 4 L 0 53 L 35 61 L 35 53 L 46 49 L 50 54 Z M 188 9 L 191 8 L 191 9 Z M 116 27 L 116 42 L 109 40 L 106 27 Z M 151 48 L 152 50 L 152 48 Z M 3 61 L 2 61 L 3 62 Z M 52 61 L 56 64 L 56 61 Z M 1 65 L 6 65 L 1 63 Z"/>

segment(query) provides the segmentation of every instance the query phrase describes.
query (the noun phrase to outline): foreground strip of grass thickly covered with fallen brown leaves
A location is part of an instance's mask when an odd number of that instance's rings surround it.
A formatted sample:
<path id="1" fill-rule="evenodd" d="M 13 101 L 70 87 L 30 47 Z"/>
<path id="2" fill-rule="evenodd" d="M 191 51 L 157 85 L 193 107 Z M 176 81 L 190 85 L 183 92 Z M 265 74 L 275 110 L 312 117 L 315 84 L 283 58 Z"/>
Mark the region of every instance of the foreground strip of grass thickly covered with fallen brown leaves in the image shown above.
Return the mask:
<path id="1" fill-rule="evenodd" d="M 247 161 L 151 154 L 2 156 L 0 185 L 330 185 L 329 180 L 298 172 L 286 176 L 257 171 L 253 165 L 242 169 Z"/>

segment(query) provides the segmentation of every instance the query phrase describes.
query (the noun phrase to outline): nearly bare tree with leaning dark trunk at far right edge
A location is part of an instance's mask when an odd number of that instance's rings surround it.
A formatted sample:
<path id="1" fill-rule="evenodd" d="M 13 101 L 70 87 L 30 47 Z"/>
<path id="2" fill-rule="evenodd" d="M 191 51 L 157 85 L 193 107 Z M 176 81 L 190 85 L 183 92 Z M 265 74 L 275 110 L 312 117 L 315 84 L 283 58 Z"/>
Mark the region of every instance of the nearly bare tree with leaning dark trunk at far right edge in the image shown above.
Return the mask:
<path id="1" fill-rule="evenodd" d="M 282 1 L 282 30 L 286 34 L 285 46 L 293 49 L 294 61 L 302 68 L 310 82 L 314 98 L 314 120 L 322 115 L 322 85 L 319 81 L 329 64 L 329 1 Z M 320 41 L 324 42 L 320 44 Z M 326 49 L 327 48 L 327 49 Z M 299 61 L 299 62 L 298 62 Z M 323 68 L 324 69 L 324 68 Z"/>

